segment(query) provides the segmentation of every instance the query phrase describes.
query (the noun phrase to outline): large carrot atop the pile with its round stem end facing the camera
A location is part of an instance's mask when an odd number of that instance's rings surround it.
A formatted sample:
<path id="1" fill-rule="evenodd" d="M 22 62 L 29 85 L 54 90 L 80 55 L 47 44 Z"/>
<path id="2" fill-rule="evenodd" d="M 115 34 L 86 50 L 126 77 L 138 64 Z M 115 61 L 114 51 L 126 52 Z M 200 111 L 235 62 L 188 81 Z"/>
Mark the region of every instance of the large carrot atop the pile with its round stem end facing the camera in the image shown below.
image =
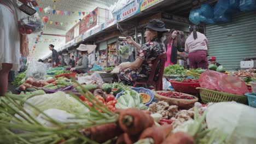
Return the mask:
<path id="1" fill-rule="evenodd" d="M 154 119 L 150 115 L 135 108 L 118 110 L 117 113 L 119 127 L 129 135 L 138 135 L 154 125 Z"/>

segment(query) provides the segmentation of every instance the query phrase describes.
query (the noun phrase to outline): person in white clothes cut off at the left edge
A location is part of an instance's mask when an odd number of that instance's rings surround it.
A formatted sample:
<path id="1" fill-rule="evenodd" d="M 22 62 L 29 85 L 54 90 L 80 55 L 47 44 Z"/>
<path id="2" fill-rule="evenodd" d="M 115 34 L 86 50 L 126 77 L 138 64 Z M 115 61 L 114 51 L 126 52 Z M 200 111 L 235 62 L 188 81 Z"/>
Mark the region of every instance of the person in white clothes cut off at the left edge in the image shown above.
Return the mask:
<path id="1" fill-rule="evenodd" d="M 37 5 L 36 1 L 32 4 Z M 20 41 L 19 15 L 25 15 L 25 13 L 19 10 L 16 0 L 0 0 L 0 96 L 7 91 L 9 71 L 19 70 L 20 50 L 22 50 L 20 45 L 25 43 Z M 20 42 L 24 43 L 20 44 Z"/>

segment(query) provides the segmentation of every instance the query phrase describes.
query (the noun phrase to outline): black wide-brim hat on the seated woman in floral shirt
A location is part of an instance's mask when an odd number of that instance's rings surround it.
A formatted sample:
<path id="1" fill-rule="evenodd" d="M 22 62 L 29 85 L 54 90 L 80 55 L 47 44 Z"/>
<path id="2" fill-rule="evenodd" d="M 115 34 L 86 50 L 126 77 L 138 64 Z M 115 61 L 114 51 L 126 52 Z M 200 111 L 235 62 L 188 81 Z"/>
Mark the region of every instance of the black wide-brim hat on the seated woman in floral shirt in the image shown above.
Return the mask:
<path id="1" fill-rule="evenodd" d="M 144 27 L 144 29 L 146 28 L 150 28 L 153 29 L 154 31 L 158 31 L 158 32 L 167 32 L 168 30 L 165 28 L 165 23 L 160 21 L 160 20 L 150 20 L 148 22 L 148 25 L 146 27 Z"/>

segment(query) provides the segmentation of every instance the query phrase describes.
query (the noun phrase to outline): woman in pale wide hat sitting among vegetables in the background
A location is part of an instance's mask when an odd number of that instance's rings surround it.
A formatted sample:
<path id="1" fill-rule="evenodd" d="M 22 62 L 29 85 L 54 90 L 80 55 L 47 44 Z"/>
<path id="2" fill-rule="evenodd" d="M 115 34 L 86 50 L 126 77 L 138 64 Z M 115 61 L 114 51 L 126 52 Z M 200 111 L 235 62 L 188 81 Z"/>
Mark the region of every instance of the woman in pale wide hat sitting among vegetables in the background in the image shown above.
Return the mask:
<path id="1" fill-rule="evenodd" d="M 80 44 L 77 50 L 79 51 L 80 58 L 77 62 L 77 66 L 74 68 L 67 68 L 71 73 L 86 73 L 89 70 L 88 53 L 91 53 L 95 49 L 96 45 L 84 45 Z"/>

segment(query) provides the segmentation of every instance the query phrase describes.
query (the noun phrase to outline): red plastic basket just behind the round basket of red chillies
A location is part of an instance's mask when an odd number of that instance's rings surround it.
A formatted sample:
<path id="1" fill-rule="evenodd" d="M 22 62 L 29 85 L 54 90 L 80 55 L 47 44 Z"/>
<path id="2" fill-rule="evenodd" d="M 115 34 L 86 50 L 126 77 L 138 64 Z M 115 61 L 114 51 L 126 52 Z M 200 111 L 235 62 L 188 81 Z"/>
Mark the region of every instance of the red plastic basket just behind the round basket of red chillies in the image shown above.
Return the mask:
<path id="1" fill-rule="evenodd" d="M 176 92 L 181 93 L 199 93 L 199 89 L 196 87 L 200 87 L 199 82 L 177 82 L 177 81 L 170 81 L 172 87 L 175 89 Z"/>

